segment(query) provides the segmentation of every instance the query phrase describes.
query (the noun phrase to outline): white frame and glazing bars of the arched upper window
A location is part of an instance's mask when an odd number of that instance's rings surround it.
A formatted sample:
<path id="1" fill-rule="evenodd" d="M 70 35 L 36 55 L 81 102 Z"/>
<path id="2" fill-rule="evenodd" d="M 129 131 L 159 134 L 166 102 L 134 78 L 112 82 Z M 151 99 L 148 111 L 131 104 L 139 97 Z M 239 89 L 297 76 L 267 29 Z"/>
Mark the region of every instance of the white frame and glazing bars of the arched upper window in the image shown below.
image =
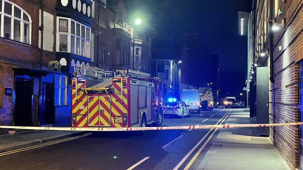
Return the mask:
<path id="1" fill-rule="evenodd" d="M 6 14 L 4 13 L 4 5 L 5 2 L 11 4 L 11 15 L 10 14 Z M 10 33 L 10 38 L 6 38 L 9 40 L 13 40 L 13 41 L 18 41 L 18 40 L 14 40 L 14 21 L 20 21 L 20 41 L 18 42 L 22 42 L 25 44 L 31 44 L 32 42 L 32 20 L 30 15 L 24 10 L 22 9 L 20 6 L 16 5 L 15 3 L 8 1 L 8 0 L 2 0 L 0 1 L 0 3 L 2 3 L 2 8 L 0 9 L 0 37 L 5 38 L 4 35 L 4 16 L 9 17 L 11 19 L 11 33 Z M 15 14 L 15 7 L 18 8 L 21 11 L 21 18 L 16 17 Z M 26 21 L 23 19 L 23 16 L 27 15 L 29 21 Z M 28 24 L 29 25 L 29 42 L 24 42 L 24 24 Z"/>

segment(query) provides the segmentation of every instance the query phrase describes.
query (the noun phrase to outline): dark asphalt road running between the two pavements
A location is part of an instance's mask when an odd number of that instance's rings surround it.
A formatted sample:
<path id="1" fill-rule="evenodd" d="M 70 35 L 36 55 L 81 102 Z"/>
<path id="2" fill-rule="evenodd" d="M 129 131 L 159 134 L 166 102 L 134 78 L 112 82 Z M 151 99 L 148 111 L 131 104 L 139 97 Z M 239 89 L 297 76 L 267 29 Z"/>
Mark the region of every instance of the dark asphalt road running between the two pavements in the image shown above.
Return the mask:
<path id="1" fill-rule="evenodd" d="M 162 126 L 220 124 L 232 111 L 214 109 L 183 119 L 169 116 Z M 0 169 L 197 169 L 218 132 L 192 129 L 86 133 L 0 154 Z"/>

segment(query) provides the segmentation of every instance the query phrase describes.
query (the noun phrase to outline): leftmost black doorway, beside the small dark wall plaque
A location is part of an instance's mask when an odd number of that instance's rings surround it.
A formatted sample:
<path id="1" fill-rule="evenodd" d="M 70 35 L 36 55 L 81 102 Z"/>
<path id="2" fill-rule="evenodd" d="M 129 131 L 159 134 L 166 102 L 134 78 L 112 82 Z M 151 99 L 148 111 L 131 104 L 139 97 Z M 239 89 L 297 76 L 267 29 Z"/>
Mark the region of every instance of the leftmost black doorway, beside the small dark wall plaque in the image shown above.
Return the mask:
<path id="1" fill-rule="evenodd" d="M 15 80 L 15 125 L 32 125 L 32 95 L 33 81 Z"/>

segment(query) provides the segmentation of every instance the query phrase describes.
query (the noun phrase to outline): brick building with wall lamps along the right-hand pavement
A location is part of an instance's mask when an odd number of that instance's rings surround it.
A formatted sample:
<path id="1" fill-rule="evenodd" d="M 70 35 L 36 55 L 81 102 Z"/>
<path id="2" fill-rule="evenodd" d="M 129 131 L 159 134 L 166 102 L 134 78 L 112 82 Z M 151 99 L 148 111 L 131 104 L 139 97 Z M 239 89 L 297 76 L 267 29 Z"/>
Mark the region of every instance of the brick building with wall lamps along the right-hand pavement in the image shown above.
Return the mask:
<path id="1" fill-rule="evenodd" d="M 248 41 L 252 41 L 253 62 L 251 71 L 248 71 L 252 77 L 248 78 L 251 81 L 251 116 L 258 119 L 258 109 L 267 107 L 266 121 L 271 124 L 302 121 L 303 1 L 254 0 L 251 22 L 252 28 L 248 29 L 252 33 L 248 37 Z M 258 81 L 261 77 L 258 70 L 261 73 L 262 69 L 267 72 L 267 82 Z M 263 95 L 269 94 L 268 99 L 258 101 L 258 86 L 264 84 L 268 89 Z M 268 129 L 269 137 L 292 169 L 303 168 L 301 128 L 280 126 Z"/>

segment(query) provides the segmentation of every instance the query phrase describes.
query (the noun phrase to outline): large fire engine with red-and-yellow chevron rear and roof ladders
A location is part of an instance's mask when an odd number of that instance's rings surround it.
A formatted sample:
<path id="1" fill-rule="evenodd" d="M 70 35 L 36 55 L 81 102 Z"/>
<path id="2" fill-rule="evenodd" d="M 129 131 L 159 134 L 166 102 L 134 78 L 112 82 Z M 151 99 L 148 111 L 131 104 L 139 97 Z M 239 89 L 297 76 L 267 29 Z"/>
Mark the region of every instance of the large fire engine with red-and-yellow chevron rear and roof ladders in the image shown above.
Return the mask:
<path id="1" fill-rule="evenodd" d="M 72 127 L 145 127 L 163 122 L 161 81 L 135 70 L 75 65 Z"/>

